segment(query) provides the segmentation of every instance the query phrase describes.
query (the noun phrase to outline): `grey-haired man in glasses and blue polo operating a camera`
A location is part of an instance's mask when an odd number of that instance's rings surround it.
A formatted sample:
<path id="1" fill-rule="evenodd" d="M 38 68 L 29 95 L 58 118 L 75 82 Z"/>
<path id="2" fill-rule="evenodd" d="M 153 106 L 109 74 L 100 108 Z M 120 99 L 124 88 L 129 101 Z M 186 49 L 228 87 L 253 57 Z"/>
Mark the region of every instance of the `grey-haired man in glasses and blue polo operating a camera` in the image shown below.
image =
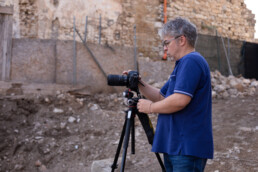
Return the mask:
<path id="1" fill-rule="evenodd" d="M 153 152 L 164 154 L 167 172 L 202 172 L 213 158 L 211 81 L 206 60 L 195 52 L 195 25 L 183 18 L 162 29 L 163 48 L 176 61 L 169 80 L 159 90 L 141 81 L 137 108 L 159 113 Z M 127 72 L 124 72 L 127 74 Z"/>

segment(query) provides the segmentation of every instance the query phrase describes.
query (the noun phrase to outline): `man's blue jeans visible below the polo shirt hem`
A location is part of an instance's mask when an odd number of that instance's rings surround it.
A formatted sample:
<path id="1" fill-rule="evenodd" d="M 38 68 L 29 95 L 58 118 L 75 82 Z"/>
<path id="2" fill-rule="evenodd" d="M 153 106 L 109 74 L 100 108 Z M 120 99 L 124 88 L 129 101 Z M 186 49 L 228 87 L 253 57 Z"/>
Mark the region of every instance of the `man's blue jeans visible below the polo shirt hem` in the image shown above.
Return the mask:
<path id="1" fill-rule="evenodd" d="M 166 172 L 203 172 L 207 159 L 187 155 L 164 153 Z"/>

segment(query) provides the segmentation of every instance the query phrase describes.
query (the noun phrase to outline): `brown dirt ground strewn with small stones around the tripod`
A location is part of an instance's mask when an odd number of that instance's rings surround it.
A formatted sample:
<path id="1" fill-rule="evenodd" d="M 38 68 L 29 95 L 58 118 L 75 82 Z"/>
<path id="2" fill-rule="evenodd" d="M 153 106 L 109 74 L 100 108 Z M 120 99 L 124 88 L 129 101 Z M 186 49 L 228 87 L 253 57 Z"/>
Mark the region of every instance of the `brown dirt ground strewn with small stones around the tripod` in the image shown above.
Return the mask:
<path id="1" fill-rule="evenodd" d="M 258 171 L 257 95 L 213 100 L 215 154 L 207 172 Z M 93 161 L 112 162 L 125 103 L 122 93 L 1 95 L 0 171 L 90 172 Z M 161 171 L 138 119 L 135 128 L 136 154 L 128 149 L 125 171 Z"/>

